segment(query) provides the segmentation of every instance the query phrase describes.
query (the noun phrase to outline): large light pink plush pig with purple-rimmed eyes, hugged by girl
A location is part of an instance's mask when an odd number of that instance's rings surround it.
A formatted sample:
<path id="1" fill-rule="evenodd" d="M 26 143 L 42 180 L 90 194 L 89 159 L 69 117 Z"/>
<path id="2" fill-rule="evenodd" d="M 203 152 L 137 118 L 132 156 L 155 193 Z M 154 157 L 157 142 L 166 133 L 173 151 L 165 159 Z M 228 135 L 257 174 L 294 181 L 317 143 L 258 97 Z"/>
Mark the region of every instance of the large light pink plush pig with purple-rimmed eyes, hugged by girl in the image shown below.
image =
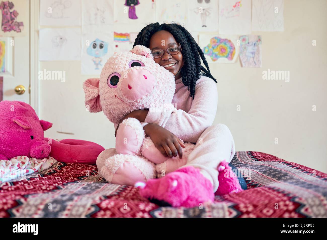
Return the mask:
<path id="1" fill-rule="evenodd" d="M 103 111 L 115 126 L 129 112 L 150 108 L 165 111 L 173 108 L 171 102 L 175 93 L 174 75 L 157 64 L 150 49 L 136 45 L 130 52 L 117 53 L 104 65 L 100 78 L 91 78 L 84 82 L 85 105 L 90 112 Z M 170 109 L 169 109 L 170 108 Z M 143 126 L 137 119 L 125 119 L 117 130 L 117 154 L 108 158 L 106 169 L 102 173 L 109 182 L 128 177 L 130 183 L 140 180 L 133 176 L 136 167 L 146 180 L 164 176 L 186 164 L 194 145 L 186 143 L 183 158 L 164 157 L 149 137 L 145 136 Z M 125 164 L 128 176 L 117 171 Z M 130 166 L 129 166 L 130 164 Z M 130 167 L 130 169 L 129 169 Z"/>

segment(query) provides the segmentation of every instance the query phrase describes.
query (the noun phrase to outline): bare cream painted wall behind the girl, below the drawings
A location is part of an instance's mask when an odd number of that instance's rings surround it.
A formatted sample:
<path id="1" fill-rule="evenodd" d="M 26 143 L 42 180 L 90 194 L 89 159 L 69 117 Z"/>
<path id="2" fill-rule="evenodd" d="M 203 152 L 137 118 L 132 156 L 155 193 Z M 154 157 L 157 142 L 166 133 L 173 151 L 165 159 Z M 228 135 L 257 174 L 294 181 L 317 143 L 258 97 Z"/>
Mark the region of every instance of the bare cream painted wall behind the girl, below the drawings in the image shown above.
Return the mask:
<path id="1" fill-rule="evenodd" d="M 215 124 L 230 128 L 237 151 L 266 152 L 327 172 L 326 12 L 326 0 L 285 0 L 285 31 L 252 33 L 262 36 L 262 68 L 241 68 L 239 60 L 210 65 L 218 80 Z M 80 61 L 40 62 L 40 69 L 66 71 L 65 83 L 40 83 L 40 117 L 54 123 L 45 136 L 114 147 L 113 124 L 85 109 L 81 86 L 91 76 L 80 74 Z M 263 80 L 268 69 L 290 71 L 290 81 Z"/>

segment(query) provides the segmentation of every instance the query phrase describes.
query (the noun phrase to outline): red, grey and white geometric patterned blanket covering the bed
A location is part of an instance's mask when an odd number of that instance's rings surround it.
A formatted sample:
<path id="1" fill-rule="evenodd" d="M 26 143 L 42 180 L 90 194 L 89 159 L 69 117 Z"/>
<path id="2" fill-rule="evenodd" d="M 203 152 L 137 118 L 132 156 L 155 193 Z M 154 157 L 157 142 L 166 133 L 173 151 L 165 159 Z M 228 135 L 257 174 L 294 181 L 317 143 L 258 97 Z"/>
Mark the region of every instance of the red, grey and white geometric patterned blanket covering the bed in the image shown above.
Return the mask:
<path id="1" fill-rule="evenodd" d="M 159 207 L 96 165 L 56 162 L 0 184 L 0 217 L 327 217 L 327 174 L 276 156 L 236 152 L 248 189 L 195 208 Z"/>

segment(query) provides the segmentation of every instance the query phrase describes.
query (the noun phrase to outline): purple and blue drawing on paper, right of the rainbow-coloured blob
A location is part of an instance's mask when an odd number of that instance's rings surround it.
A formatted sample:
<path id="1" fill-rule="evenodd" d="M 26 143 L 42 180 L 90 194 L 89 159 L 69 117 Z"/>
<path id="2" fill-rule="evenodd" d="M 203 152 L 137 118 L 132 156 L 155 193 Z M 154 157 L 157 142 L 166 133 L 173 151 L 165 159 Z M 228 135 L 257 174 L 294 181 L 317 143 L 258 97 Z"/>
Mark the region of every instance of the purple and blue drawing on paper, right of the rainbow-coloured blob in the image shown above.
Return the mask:
<path id="1" fill-rule="evenodd" d="M 261 67 L 261 36 L 241 36 L 240 59 L 242 67 L 260 68 Z"/>

